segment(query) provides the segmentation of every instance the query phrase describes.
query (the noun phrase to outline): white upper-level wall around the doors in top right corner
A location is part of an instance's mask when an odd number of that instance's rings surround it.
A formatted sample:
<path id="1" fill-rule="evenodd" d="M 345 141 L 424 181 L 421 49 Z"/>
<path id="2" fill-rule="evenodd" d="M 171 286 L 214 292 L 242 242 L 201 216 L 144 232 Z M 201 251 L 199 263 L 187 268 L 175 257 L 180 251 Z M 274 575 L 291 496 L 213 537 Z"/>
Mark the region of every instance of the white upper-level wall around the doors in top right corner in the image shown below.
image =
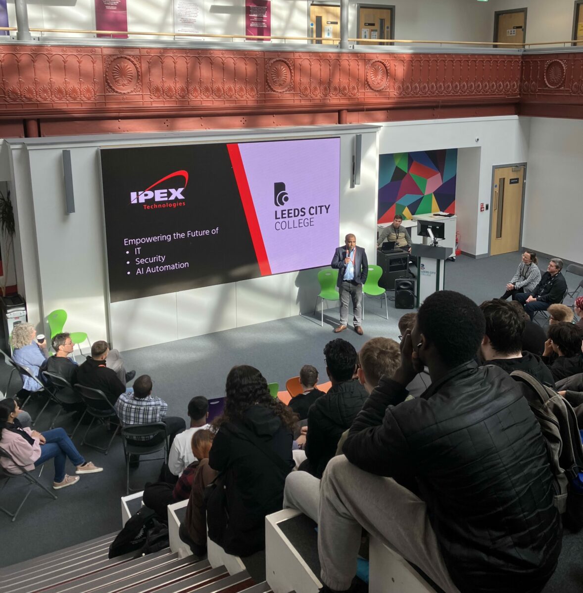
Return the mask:
<path id="1" fill-rule="evenodd" d="M 571 40 L 574 5 L 574 0 L 491 0 L 486 4 L 492 12 L 489 39 L 493 39 L 495 11 L 527 8 L 526 43 Z"/>

